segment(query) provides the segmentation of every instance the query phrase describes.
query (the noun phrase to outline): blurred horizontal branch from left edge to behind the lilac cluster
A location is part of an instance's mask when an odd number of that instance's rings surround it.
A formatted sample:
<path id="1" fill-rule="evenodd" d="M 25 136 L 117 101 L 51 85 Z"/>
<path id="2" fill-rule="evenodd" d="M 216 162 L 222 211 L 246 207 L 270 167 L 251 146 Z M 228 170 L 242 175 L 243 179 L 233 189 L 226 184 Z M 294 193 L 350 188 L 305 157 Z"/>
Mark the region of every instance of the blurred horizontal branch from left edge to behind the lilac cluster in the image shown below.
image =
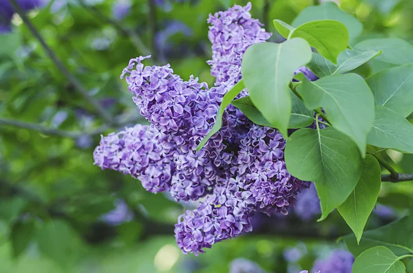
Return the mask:
<path id="1" fill-rule="evenodd" d="M 143 120 L 142 118 L 130 118 L 122 122 L 115 122 L 115 123 L 118 127 L 121 127 L 129 123 L 139 123 L 142 120 Z M 20 120 L 12 120 L 9 118 L 0 118 L 0 126 L 1 125 L 30 129 L 30 130 L 38 131 L 45 135 L 57 135 L 57 136 L 61 136 L 64 138 L 80 138 L 82 135 L 100 135 L 100 133 L 103 133 L 107 129 L 110 128 L 108 125 L 103 125 L 91 131 L 65 131 L 65 130 L 44 127 L 40 124 L 23 122 Z"/>

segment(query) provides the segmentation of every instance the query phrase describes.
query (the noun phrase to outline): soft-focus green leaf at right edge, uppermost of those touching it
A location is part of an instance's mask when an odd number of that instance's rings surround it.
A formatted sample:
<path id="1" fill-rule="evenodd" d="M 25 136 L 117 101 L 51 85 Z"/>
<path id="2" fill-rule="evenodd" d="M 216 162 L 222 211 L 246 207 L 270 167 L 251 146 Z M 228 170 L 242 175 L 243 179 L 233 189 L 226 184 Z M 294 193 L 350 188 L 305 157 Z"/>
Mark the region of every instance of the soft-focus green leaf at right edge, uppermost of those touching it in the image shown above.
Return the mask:
<path id="1" fill-rule="evenodd" d="M 394 65 L 407 65 L 413 63 L 413 45 L 400 38 L 368 39 L 357 43 L 354 48 L 358 50 L 383 50 L 378 61 Z"/>

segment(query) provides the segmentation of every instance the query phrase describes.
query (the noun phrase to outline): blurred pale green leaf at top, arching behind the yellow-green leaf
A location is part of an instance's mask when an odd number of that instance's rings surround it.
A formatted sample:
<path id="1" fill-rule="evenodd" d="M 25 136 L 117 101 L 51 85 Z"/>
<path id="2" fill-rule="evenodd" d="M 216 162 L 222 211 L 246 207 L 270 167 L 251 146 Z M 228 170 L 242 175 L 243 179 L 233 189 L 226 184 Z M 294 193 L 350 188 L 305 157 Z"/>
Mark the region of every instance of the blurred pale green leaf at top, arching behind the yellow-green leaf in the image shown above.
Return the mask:
<path id="1" fill-rule="evenodd" d="M 350 41 L 363 32 L 363 25 L 359 20 L 352 17 L 350 14 L 343 12 L 340 8 L 332 2 L 326 2 L 319 6 L 309 6 L 305 8 L 293 21 L 293 27 L 302 25 L 303 23 L 315 20 L 330 19 L 336 20 L 343 25 L 346 25 Z"/>

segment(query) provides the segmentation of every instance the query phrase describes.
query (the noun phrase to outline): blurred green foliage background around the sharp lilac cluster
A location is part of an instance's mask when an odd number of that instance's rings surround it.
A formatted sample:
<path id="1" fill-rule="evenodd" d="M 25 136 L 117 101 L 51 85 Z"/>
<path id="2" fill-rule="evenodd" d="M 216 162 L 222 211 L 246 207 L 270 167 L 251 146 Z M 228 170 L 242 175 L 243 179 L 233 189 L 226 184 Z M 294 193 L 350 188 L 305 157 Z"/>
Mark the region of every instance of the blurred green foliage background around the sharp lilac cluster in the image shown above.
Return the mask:
<path id="1" fill-rule="evenodd" d="M 171 63 L 182 78 L 193 74 L 213 85 L 207 18 L 247 2 L 131 0 L 121 19 L 116 2 L 103 0 L 54 0 L 28 12 L 70 74 L 116 117 L 114 124 L 94 111 L 14 14 L 12 32 L 0 34 L 0 272 L 226 273 L 237 258 L 268 272 L 298 272 L 341 247 L 335 238 L 350 230 L 335 212 L 322 223 L 259 217 L 252 234 L 218 243 L 198 257 L 184 255 L 173 223 L 190 205 L 147 193 L 138 180 L 93 165 L 100 133 L 145 122 L 119 78 L 129 59 L 150 52 L 153 63 Z M 323 1 L 251 2 L 253 17 L 274 33 L 271 41 L 281 41 L 273 19 L 290 23 Z M 411 0 L 336 2 L 363 23 L 360 39 L 413 40 Z M 363 68 L 381 67 L 372 61 Z M 413 172 L 411 155 L 388 155 L 396 169 Z M 385 185 L 380 201 L 403 213 L 412 194 L 410 183 Z M 372 216 L 368 227 L 385 221 Z M 297 259 L 288 258 L 288 250 L 299 253 Z"/>

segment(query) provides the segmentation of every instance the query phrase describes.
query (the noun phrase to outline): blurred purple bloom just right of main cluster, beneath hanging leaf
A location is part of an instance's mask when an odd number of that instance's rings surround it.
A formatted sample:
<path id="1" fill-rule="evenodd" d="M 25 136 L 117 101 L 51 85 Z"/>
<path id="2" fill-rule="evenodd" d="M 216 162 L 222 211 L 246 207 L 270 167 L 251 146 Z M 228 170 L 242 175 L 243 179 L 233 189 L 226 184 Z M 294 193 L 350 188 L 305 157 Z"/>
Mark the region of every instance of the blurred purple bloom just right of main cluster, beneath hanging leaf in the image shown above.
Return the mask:
<path id="1" fill-rule="evenodd" d="M 314 183 L 311 183 L 310 188 L 304 189 L 299 193 L 294 211 L 304 221 L 309 221 L 316 215 L 321 214 L 320 199 Z"/>

